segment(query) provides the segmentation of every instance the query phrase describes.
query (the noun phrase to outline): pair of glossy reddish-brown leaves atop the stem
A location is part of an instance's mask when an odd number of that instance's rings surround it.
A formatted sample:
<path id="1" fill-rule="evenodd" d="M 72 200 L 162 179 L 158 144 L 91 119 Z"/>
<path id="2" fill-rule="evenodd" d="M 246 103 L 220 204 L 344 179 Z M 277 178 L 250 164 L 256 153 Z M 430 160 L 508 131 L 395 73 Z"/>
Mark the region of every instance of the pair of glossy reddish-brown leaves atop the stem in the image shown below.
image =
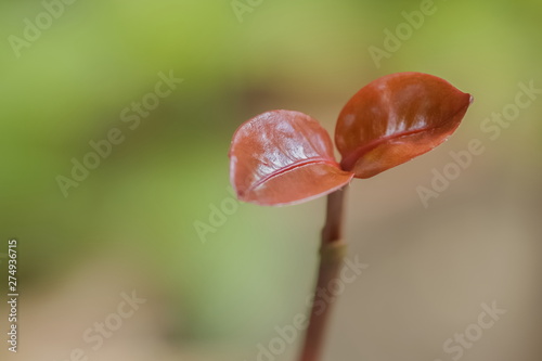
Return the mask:
<path id="1" fill-rule="evenodd" d="M 339 114 L 335 143 L 320 124 L 292 111 L 244 123 L 230 149 L 230 177 L 241 201 L 287 205 L 370 178 L 424 154 L 459 127 L 473 98 L 422 73 L 398 73 L 363 87 Z"/>

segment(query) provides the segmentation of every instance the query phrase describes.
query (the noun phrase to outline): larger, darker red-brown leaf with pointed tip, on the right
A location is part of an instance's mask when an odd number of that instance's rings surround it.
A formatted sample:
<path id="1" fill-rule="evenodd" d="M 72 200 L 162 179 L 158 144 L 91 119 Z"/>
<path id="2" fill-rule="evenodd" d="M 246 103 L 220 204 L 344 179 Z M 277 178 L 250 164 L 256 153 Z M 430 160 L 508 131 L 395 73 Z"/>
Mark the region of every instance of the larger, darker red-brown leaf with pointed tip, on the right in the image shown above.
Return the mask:
<path id="1" fill-rule="evenodd" d="M 361 88 L 335 128 L 343 169 L 370 178 L 424 154 L 457 128 L 470 94 L 422 73 L 397 73 Z"/>

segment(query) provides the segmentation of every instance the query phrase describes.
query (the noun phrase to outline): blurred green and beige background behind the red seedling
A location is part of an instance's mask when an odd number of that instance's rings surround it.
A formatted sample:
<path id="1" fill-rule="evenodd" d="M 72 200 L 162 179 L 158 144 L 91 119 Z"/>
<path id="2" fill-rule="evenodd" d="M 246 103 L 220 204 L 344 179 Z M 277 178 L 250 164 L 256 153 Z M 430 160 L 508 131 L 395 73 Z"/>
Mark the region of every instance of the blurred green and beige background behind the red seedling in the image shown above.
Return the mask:
<path id="1" fill-rule="evenodd" d="M 359 88 L 406 70 L 475 103 L 439 149 L 352 182 L 348 257 L 370 267 L 335 305 L 324 359 L 452 360 L 443 343 L 494 300 L 506 314 L 461 359 L 540 360 L 542 96 L 498 139 L 480 129 L 519 82 L 542 88 L 540 1 L 437 0 L 379 67 L 369 48 L 420 1 L 240 3 L 237 16 L 230 0 L 76 1 L 18 57 L 10 36 L 23 38 L 43 4 L 0 3 L 0 253 L 18 240 L 21 293 L 16 354 L 0 306 L 2 360 L 69 360 L 77 348 L 95 361 L 267 360 L 258 344 L 307 312 L 325 199 L 233 203 L 231 136 L 273 108 L 333 132 Z M 160 72 L 183 81 L 131 130 L 120 113 Z M 65 197 L 56 178 L 113 128 L 125 141 Z M 483 154 L 425 208 L 416 188 L 472 139 Z M 223 205 L 229 215 L 214 216 Z M 195 224 L 209 217 L 218 225 L 202 237 Z M 92 350 L 86 330 L 132 291 L 146 302 Z M 299 340 L 272 359 L 295 360 Z"/>

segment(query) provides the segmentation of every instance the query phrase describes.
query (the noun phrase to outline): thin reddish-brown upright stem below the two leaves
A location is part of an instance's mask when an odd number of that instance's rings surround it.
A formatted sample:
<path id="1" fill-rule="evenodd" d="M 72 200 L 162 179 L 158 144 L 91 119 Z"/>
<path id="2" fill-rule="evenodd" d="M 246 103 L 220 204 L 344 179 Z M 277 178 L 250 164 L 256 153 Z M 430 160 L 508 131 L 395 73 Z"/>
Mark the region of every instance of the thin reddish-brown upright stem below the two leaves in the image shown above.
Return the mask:
<path id="1" fill-rule="evenodd" d="M 318 361 L 321 357 L 327 320 L 336 296 L 330 292 L 328 286 L 337 278 L 346 249 L 341 240 L 345 193 L 346 189 L 341 189 L 327 195 L 314 301 L 299 361 Z"/>

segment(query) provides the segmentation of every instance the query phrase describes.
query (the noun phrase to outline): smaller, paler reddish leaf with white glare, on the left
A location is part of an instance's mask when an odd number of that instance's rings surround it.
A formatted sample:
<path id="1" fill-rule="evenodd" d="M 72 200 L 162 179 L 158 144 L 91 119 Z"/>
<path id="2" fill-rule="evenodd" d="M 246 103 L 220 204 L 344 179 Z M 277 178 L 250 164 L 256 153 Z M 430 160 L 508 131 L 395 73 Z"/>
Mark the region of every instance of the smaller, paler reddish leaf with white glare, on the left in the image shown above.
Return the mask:
<path id="1" fill-rule="evenodd" d="M 229 156 L 238 198 L 259 205 L 310 201 L 353 177 L 335 162 L 325 129 L 298 112 L 272 111 L 244 123 L 233 134 Z"/>

